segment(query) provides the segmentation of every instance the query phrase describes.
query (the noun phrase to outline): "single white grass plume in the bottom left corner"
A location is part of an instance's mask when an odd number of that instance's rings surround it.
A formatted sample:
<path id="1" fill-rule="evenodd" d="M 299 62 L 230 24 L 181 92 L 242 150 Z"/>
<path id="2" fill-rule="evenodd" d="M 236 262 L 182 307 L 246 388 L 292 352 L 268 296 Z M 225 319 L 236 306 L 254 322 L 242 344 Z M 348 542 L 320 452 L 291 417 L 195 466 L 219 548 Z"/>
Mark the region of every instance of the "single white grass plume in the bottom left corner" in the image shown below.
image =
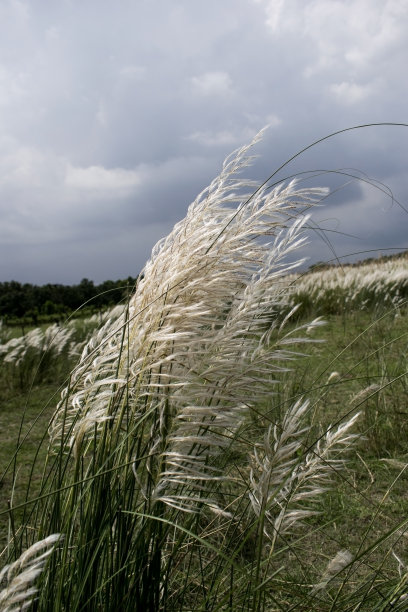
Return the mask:
<path id="1" fill-rule="evenodd" d="M 53 534 L 36 542 L 0 571 L 0 612 L 17 612 L 31 606 L 37 593 L 34 583 L 60 538 L 60 534 Z"/>

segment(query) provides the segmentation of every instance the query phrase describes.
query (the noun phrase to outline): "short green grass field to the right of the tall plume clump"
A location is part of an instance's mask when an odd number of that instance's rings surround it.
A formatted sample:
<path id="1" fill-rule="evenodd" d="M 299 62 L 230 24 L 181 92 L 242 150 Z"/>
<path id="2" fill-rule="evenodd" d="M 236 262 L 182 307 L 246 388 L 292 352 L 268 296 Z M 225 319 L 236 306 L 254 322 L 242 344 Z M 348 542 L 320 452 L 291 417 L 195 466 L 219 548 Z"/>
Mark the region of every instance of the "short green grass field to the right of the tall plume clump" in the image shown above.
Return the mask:
<path id="1" fill-rule="evenodd" d="M 315 531 L 303 542 L 300 566 L 312 564 L 323 571 L 338 550 L 355 554 L 373 546 L 362 558 L 359 573 L 374 572 L 376 589 L 386 591 L 391 577 L 395 579 L 392 551 L 405 559 L 408 537 L 407 525 L 403 533 L 386 537 L 408 516 L 407 319 L 405 312 L 396 317 L 393 311 L 329 316 L 318 336 L 324 343 L 313 346 L 283 378 L 271 414 L 307 390 L 315 435 L 359 410 L 358 428 L 364 437 L 336 486 L 322 497 L 320 516 L 310 521 Z M 329 381 L 332 372 L 339 376 Z M 361 609 L 371 610 L 372 605 L 369 601 Z"/>

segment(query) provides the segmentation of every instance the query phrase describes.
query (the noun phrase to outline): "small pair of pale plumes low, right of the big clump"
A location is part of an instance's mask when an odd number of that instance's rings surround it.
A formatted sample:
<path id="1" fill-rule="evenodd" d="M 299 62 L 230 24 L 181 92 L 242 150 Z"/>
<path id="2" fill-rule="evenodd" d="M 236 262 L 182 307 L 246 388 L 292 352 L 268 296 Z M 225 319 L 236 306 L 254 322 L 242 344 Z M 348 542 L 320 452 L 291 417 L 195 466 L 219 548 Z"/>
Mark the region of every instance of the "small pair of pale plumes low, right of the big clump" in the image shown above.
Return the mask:
<path id="1" fill-rule="evenodd" d="M 335 430 L 329 427 L 305 453 L 309 427 L 302 422 L 307 408 L 308 402 L 296 402 L 254 449 L 249 497 L 255 514 L 264 517 L 264 533 L 272 545 L 317 513 L 313 502 L 325 491 L 333 472 L 343 466 L 344 451 L 358 437 L 350 429 L 359 413 Z"/>

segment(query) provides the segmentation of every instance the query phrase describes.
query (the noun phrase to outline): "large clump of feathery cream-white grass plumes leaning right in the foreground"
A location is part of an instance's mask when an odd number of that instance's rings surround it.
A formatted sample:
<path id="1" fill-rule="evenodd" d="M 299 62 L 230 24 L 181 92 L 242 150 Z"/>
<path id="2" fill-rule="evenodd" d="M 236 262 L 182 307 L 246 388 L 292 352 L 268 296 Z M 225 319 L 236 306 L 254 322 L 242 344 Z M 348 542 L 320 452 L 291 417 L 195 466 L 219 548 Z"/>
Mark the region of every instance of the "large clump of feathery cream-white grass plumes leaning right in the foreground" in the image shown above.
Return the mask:
<path id="1" fill-rule="evenodd" d="M 277 314 L 284 275 L 300 263 L 288 256 L 304 243 L 304 211 L 327 190 L 237 178 L 259 138 L 227 158 L 153 248 L 127 310 L 84 349 L 50 428 L 51 443 L 63 436 L 78 457 L 108 421 L 148 427 L 150 458 L 139 469 L 135 456 L 134 473 L 153 503 L 210 504 L 209 485 L 225 477 L 217 457 L 298 354 L 301 339 Z"/>

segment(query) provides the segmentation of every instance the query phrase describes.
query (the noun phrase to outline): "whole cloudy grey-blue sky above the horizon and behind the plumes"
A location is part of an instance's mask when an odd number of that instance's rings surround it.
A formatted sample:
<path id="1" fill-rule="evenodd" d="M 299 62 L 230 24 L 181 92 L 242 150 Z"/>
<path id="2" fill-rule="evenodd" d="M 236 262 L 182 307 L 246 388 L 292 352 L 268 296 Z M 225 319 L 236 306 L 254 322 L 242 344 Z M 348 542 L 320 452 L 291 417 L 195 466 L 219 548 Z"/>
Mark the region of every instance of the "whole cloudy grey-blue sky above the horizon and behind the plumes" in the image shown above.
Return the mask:
<path id="1" fill-rule="evenodd" d="M 267 124 L 259 181 L 408 123 L 407 32 L 407 0 L 0 0 L 0 282 L 136 276 Z M 408 248 L 407 153 L 382 125 L 285 166 L 358 177 L 308 180 L 301 255 Z"/>

